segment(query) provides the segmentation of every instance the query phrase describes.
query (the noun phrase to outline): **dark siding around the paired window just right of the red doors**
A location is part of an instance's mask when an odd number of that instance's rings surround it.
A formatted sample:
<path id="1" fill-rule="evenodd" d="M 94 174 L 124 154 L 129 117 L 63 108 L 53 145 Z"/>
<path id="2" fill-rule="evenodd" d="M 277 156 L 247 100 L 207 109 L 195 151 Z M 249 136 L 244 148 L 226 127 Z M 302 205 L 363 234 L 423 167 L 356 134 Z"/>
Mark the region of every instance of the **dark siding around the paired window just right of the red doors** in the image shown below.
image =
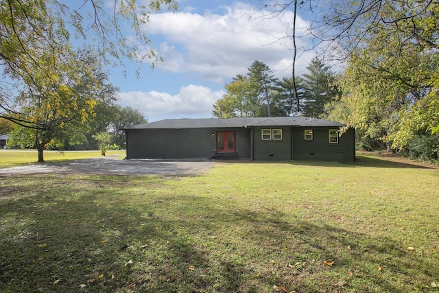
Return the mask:
<path id="1" fill-rule="evenodd" d="M 282 129 L 282 140 L 262 140 L 263 129 Z M 255 127 L 254 160 L 289 161 L 292 156 L 291 127 Z"/>

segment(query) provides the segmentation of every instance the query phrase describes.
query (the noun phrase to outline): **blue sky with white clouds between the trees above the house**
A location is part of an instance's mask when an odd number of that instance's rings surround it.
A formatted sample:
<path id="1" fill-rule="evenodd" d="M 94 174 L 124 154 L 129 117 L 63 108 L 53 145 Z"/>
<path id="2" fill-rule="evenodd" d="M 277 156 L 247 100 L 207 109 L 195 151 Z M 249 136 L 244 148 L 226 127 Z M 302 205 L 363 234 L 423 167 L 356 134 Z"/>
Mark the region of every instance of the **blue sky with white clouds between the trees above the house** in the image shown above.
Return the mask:
<path id="1" fill-rule="evenodd" d="M 118 86 L 119 104 L 140 110 L 148 121 L 209 118 L 224 85 L 245 75 L 252 62 L 265 62 L 278 78 L 292 76 L 292 12 L 269 19 L 260 1 L 180 0 L 178 12 L 154 14 L 143 30 L 164 62 L 152 70 L 127 65 L 124 77 L 112 69 L 110 82 Z M 306 34 L 309 22 L 298 16 L 297 33 Z M 298 47 L 312 47 L 300 38 Z M 296 70 L 305 73 L 316 51 L 300 49 Z"/>

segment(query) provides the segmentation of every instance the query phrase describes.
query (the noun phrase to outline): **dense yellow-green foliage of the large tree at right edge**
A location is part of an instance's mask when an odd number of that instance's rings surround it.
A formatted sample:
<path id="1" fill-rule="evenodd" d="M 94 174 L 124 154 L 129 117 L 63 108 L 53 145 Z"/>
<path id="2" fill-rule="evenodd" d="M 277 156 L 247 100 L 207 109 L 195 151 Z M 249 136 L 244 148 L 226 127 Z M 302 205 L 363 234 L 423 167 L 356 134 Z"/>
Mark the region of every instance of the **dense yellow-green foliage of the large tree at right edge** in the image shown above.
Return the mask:
<path id="1" fill-rule="evenodd" d="M 344 95 L 329 115 L 383 141 L 388 150 L 402 150 L 419 132 L 434 133 L 439 121 L 439 44 L 431 32 L 439 23 L 437 6 L 390 1 L 379 9 L 371 6 L 377 18 L 359 14 L 356 21 L 377 23 L 361 38 L 355 36 L 360 45 L 349 51 L 340 78 Z M 346 111 L 333 112 L 340 108 Z"/>

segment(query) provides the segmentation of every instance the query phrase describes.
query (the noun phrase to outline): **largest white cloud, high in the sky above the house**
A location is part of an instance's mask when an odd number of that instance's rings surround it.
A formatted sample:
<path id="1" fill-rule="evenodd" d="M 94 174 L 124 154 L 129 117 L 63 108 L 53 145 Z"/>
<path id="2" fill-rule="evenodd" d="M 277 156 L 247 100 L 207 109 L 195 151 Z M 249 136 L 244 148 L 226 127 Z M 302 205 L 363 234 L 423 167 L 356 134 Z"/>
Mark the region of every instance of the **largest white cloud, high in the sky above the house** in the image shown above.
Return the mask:
<path id="1" fill-rule="evenodd" d="M 291 35 L 292 19 L 292 12 L 268 19 L 264 12 L 235 2 L 224 7 L 224 14 L 201 15 L 190 10 L 152 14 L 145 32 L 148 36 L 161 36 L 155 45 L 165 62 L 158 70 L 193 72 L 200 78 L 224 84 L 237 74 L 245 74 L 254 60 L 265 62 L 276 72 L 287 70 L 293 53 L 292 38 L 285 36 Z M 298 17 L 297 27 L 302 28 L 298 34 L 304 35 L 308 26 Z M 298 39 L 298 47 L 306 47 L 304 41 L 305 38 Z M 279 76 L 288 73 L 289 70 Z"/>

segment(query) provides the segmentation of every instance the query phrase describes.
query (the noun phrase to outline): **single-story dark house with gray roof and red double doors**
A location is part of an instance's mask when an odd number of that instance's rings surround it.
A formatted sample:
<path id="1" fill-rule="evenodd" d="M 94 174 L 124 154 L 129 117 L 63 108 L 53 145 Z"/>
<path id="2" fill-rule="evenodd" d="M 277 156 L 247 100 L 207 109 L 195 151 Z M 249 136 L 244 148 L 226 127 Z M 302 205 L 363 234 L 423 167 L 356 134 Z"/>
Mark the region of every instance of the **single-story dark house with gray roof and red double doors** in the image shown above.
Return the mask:
<path id="1" fill-rule="evenodd" d="M 353 163 L 355 130 L 309 117 L 165 119 L 124 129 L 127 159 Z"/>

